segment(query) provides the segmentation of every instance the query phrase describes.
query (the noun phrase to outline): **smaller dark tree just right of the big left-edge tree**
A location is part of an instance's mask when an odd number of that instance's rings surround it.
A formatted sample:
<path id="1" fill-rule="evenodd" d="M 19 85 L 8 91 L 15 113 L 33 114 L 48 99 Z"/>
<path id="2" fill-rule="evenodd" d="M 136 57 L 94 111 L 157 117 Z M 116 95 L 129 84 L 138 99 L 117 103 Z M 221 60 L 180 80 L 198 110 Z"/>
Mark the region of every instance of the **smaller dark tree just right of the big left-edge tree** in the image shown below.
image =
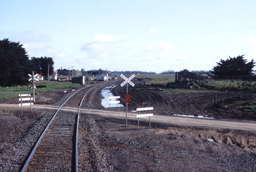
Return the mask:
<path id="1" fill-rule="evenodd" d="M 53 59 L 52 57 L 31 57 L 30 61 L 32 62 L 35 73 L 39 73 L 44 76 L 44 78 L 48 75 L 48 65 L 49 65 L 49 75 L 53 74 Z"/>

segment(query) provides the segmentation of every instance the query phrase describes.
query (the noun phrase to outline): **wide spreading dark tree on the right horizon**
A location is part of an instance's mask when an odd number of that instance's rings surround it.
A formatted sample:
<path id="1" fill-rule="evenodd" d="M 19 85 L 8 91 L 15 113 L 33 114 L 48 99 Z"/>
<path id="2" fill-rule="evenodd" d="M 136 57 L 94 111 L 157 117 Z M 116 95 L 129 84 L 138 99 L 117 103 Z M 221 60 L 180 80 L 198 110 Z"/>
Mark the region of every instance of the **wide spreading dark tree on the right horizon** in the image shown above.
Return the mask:
<path id="1" fill-rule="evenodd" d="M 247 63 L 244 55 L 238 55 L 233 58 L 229 56 L 227 60 L 220 59 L 220 62 L 217 62 L 217 66 L 213 67 L 210 71 L 217 76 L 252 75 L 252 68 L 254 66 L 254 60 L 252 59 L 252 61 Z"/>

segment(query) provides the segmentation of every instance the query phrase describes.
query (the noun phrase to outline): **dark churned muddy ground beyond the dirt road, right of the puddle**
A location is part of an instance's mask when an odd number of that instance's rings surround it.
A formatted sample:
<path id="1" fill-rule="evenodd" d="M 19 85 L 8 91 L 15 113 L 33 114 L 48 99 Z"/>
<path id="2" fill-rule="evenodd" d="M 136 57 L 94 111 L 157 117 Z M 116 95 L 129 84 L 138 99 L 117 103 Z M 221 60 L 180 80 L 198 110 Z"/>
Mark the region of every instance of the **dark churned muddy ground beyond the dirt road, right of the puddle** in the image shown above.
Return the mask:
<path id="1" fill-rule="evenodd" d="M 124 100 L 126 89 L 115 87 L 113 93 Z M 135 87 L 128 86 L 128 93 L 132 99 L 128 105 L 130 110 L 152 106 L 154 113 L 158 114 L 206 115 L 212 118 L 256 120 L 254 113 L 241 109 L 246 105 L 247 100 L 255 99 L 255 93 L 252 92 L 198 90 L 182 93 L 172 91 L 170 88 L 136 84 Z M 217 97 L 216 105 L 214 105 L 214 95 Z M 253 103 L 251 105 L 255 106 Z"/>

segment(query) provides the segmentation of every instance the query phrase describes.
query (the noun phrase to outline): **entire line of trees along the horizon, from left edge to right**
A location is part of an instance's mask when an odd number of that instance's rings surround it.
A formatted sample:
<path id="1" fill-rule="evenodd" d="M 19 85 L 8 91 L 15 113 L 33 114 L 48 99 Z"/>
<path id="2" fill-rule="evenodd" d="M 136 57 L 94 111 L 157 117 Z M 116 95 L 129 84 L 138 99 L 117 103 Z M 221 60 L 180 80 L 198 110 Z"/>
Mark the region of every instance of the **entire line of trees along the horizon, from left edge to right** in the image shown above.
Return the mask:
<path id="1" fill-rule="evenodd" d="M 31 57 L 22 47 L 20 42 L 9 41 L 9 39 L 0 40 L 0 86 L 13 86 L 13 85 L 27 85 L 28 74 L 32 74 L 32 71 L 38 74 L 42 74 L 44 78 L 48 77 L 48 65 L 49 74 L 53 73 L 54 61 L 52 57 Z M 237 57 L 227 58 L 226 60 L 220 60 L 216 62 L 217 65 L 212 70 L 192 70 L 197 74 L 208 74 L 210 76 L 239 76 L 239 75 L 252 75 L 253 67 L 256 66 L 254 60 L 247 61 L 244 55 L 238 55 Z M 188 70 L 188 69 L 184 69 Z M 58 69 L 59 75 L 70 75 L 70 71 L 67 69 Z M 181 70 L 183 71 L 183 70 Z M 81 72 L 81 73 L 80 73 Z M 75 75 L 102 75 L 107 70 L 103 69 L 84 69 L 75 70 Z M 108 71 L 113 74 L 156 74 L 156 72 L 144 72 L 144 71 Z M 167 70 L 160 74 L 175 74 L 173 70 Z"/>

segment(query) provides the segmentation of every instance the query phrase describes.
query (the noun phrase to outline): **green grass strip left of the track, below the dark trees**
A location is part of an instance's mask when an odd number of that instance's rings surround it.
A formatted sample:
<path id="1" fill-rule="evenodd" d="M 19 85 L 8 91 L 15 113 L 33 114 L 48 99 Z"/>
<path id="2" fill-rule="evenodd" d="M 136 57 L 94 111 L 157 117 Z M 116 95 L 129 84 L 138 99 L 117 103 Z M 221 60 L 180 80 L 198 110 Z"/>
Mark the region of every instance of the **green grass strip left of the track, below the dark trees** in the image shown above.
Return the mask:
<path id="1" fill-rule="evenodd" d="M 67 82 L 47 82 L 47 81 L 37 81 L 36 87 L 38 87 L 35 92 L 42 93 L 42 92 L 50 92 L 52 90 L 59 90 L 67 88 Z M 72 84 L 68 82 L 68 87 L 75 87 L 79 86 L 80 84 Z M 39 88 L 40 86 L 47 86 L 44 88 Z M 3 98 L 18 98 L 19 94 L 31 94 L 33 95 L 33 90 L 31 89 L 32 85 L 28 86 L 13 86 L 13 87 L 0 87 L 0 100 Z"/>

